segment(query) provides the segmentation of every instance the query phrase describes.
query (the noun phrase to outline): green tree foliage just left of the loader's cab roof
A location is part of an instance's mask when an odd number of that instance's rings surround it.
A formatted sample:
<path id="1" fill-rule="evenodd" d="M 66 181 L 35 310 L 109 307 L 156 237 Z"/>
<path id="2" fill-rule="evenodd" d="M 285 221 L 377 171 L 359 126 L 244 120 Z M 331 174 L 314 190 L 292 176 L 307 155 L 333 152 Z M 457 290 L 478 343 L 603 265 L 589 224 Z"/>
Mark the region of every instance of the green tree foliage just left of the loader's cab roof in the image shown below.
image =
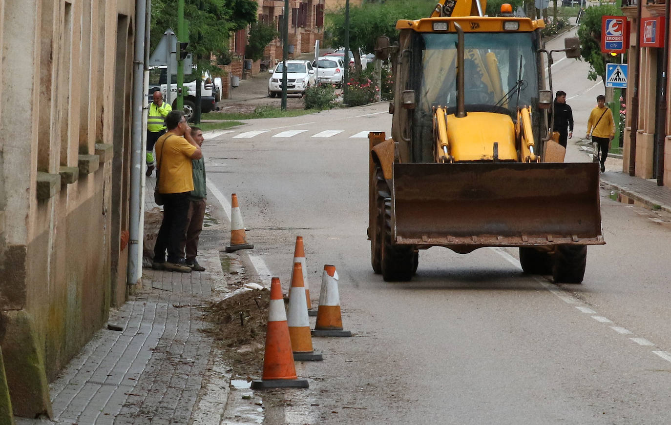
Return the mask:
<path id="1" fill-rule="evenodd" d="M 372 52 L 375 40 L 387 36 L 392 42 L 399 39 L 396 21 L 399 19 L 419 19 L 431 15 L 435 0 L 387 0 L 384 3 L 368 2 L 361 6 L 350 6 L 350 50 L 354 56 L 354 66 L 361 70 L 361 55 Z M 325 45 L 337 49 L 345 46 L 345 9 L 342 8 L 326 16 Z"/>

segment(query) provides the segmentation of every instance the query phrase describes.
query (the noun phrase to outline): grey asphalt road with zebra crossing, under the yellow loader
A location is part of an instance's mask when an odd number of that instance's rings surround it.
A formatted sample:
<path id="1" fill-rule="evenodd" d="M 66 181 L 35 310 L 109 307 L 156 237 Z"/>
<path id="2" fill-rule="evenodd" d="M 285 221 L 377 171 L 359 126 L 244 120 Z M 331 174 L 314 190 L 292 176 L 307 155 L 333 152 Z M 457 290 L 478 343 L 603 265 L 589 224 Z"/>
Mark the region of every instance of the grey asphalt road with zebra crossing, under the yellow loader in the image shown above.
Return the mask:
<path id="1" fill-rule="evenodd" d="M 603 91 L 572 60 L 553 71 L 555 90 L 580 94 L 574 111 Z M 671 422 L 668 217 L 602 196 L 607 245 L 588 249 L 582 285 L 522 274 L 515 249 L 438 247 L 421 251 L 411 282 L 382 282 L 366 240 L 364 133 L 389 131 L 386 110 L 249 121 L 206 142 L 209 180 L 238 194 L 255 245 L 240 253 L 248 274 L 267 269 L 286 290 L 302 235 L 313 298 L 335 265 L 355 332 L 313 339 L 324 361 L 297 363 L 309 389 L 258 393 L 264 423 Z M 572 144 L 568 158 L 587 159 Z"/>

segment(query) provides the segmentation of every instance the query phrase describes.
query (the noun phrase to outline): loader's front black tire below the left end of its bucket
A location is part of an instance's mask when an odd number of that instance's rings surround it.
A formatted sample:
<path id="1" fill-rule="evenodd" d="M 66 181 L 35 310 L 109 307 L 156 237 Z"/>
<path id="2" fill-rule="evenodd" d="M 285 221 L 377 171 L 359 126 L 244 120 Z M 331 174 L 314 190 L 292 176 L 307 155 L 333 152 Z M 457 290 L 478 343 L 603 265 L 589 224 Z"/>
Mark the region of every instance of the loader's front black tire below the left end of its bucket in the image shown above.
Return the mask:
<path id="1" fill-rule="evenodd" d="M 394 245 L 391 241 L 391 200 L 384 200 L 384 226 L 380 241 L 380 267 L 385 282 L 407 282 L 415 274 L 415 249 Z"/>

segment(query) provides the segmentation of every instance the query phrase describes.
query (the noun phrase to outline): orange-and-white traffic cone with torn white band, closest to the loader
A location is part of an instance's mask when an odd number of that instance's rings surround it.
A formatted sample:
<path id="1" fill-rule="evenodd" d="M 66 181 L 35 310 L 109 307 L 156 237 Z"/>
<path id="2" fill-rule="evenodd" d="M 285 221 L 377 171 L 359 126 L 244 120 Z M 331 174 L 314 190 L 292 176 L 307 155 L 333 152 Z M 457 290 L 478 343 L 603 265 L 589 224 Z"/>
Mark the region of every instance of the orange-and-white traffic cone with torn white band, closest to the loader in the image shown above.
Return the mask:
<path id="1" fill-rule="evenodd" d="M 317 323 L 315 323 L 312 335 L 314 337 L 352 337 L 352 332 L 342 330 L 338 272 L 335 271 L 334 265 L 324 265 L 321 291 L 319 291 Z"/>

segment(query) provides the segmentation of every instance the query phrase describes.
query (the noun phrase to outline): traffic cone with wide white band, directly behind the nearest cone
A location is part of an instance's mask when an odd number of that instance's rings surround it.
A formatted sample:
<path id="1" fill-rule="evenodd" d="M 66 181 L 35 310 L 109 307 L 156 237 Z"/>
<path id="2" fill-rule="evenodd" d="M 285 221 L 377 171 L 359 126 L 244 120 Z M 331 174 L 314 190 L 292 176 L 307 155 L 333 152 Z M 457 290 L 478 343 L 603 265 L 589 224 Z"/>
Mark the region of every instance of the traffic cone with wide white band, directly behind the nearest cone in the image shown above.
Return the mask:
<path id="1" fill-rule="evenodd" d="M 289 288 L 289 337 L 294 360 L 323 360 L 321 353 L 312 349 L 310 320 L 307 317 L 305 286 L 303 286 L 303 267 L 294 263 L 293 279 Z"/>

